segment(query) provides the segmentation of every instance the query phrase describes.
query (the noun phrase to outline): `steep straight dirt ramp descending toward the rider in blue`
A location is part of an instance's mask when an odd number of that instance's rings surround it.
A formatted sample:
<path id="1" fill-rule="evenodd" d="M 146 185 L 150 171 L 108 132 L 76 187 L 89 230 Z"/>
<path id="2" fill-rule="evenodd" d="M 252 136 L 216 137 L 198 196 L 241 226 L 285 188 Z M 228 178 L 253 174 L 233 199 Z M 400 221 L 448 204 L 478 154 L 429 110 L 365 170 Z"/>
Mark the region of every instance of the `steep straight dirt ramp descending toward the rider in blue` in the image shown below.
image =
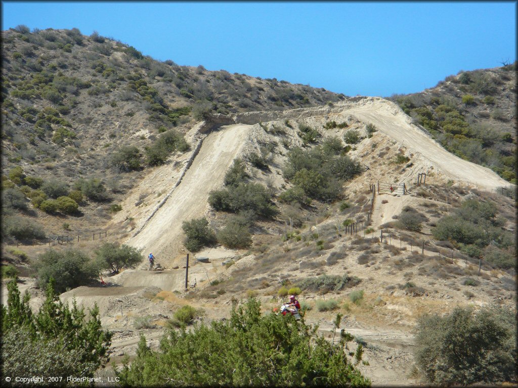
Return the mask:
<path id="1" fill-rule="evenodd" d="M 209 191 L 221 186 L 224 174 L 238 156 L 249 129 L 249 125 L 237 124 L 212 132 L 204 140 L 180 185 L 147 225 L 127 243 L 144 248 L 145 252 L 153 252 L 158 261 L 170 265 L 171 255 L 176 255 L 181 246 L 182 221 L 205 214 Z"/>

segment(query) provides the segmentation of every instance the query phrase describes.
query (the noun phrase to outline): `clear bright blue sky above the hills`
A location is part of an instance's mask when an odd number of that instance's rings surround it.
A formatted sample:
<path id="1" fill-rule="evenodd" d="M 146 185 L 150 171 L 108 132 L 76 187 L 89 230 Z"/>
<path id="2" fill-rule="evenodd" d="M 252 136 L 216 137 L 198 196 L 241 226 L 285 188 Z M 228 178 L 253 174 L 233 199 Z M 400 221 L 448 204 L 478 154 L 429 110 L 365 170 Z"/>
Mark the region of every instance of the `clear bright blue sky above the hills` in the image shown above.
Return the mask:
<path id="1" fill-rule="evenodd" d="M 420 92 L 516 59 L 515 2 L 2 2 L 2 29 L 72 28 L 144 55 L 349 96 Z"/>

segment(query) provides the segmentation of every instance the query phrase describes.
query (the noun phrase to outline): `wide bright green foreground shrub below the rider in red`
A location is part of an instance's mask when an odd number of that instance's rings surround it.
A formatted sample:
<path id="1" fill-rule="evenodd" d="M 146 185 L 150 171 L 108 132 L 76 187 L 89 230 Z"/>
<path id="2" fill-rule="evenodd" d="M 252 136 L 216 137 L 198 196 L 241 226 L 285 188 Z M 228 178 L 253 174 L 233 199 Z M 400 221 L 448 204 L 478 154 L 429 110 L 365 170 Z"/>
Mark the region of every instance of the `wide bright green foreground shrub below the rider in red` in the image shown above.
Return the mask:
<path id="1" fill-rule="evenodd" d="M 338 315 L 336 320 L 340 319 Z M 349 337 L 344 333 L 332 346 L 290 316 L 262 315 L 260 303 L 252 298 L 223 322 L 171 331 L 160 350 L 148 348 L 142 337 L 137 356 L 131 365 L 125 361 L 117 377 L 124 386 L 160 385 L 165 379 L 196 386 L 280 386 L 287 381 L 294 386 L 316 385 L 316 381 L 370 386 L 348 360 Z M 291 365 L 297 365 L 296 373 Z M 147 370 L 153 373 L 142 373 Z"/>

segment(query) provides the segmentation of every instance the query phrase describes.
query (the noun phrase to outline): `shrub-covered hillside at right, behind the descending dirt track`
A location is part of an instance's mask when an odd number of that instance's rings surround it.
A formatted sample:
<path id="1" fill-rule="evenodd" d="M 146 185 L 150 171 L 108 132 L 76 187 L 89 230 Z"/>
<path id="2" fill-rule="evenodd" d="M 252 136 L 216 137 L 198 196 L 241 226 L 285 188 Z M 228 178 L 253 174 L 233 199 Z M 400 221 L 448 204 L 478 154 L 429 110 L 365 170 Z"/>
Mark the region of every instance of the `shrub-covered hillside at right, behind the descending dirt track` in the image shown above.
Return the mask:
<path id="1" fill-rule="evenodd" d="M 459 71 L 396 101 L 446 150 L 516 184 L 516 63 Z"/>

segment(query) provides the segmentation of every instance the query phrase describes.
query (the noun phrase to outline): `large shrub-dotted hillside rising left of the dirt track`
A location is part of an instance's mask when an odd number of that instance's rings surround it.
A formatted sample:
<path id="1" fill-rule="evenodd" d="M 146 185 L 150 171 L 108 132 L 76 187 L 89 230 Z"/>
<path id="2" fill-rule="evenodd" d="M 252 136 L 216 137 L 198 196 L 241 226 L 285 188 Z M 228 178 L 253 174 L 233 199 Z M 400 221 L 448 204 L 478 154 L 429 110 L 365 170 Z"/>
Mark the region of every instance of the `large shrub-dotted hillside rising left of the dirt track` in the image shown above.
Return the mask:
<path id="1" fill-rule="evenodd" d="M 68 191 L 78 178 L 102 180 L 106 189 L 98 187 L 93 199 L 80 203 L 84 233 L 102 228 L 126 190 L 165 162 L 170 151 L 161 148 L 164 133 L 178 137 L 210 113 L 275 111 L 344 98 L 276 79 L 155 61 L 120 41 L 77 29 L 19 29 L 2 33 L 3 182 L 15 167 Z M 37 217 L 47 234 L 61 233 L 61 223 L 44 212 Z"/>

